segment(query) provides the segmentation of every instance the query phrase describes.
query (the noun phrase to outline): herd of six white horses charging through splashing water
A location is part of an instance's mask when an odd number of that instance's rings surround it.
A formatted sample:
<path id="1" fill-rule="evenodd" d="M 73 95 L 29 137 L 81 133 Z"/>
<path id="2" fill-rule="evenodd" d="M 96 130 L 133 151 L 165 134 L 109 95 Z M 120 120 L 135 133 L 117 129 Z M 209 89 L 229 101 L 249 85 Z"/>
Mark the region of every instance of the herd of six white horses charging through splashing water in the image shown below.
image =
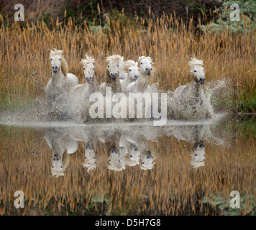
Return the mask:
<path id="1" fill-rule="evenodd" d="M 154 75 L 152 59 L 139 57 L 134 60 L 124 61 L 121 55 L 106 57 L 106 82 L 99 84 L 96 78 L 96 66 L 93 57 L 86 55 L 81 60 L 86 83 L 79 84 L 76 75 L 68 73 L 68 64 L 63 57 L 62 50 L 50 50 L 52 78 L 46 86 L 47 104 L 58 102 L 67 103 L 72 111 L 73 118 L 78 122 L 90 119 L 88 114 L 91 103 L 91 93 L 100 92 L 106 95 L 106 87 L 111 87 L 111 93 L 153 93 L 155 87 L 149 85 L 149 77 Z M 189 75 L 192 80 L 188 85 L 179 86 L 168 95 L 168 117 L 172 119 L 208 119 L 214 117 L 214 112 L 209 99 L 206 98 L 201 88 L 206 81 L 202 60 L 191 57 L 188 62 Z M 169 91 L 170 92 L 170 91 Z M 67 95 L 65 100 L 61 100 Z M 51 107 L 51 106 L 50 106 Z M 56 106 L 55 106 L 56 107 Z M 55 110 L 52 106 L 51 110 Z"/>

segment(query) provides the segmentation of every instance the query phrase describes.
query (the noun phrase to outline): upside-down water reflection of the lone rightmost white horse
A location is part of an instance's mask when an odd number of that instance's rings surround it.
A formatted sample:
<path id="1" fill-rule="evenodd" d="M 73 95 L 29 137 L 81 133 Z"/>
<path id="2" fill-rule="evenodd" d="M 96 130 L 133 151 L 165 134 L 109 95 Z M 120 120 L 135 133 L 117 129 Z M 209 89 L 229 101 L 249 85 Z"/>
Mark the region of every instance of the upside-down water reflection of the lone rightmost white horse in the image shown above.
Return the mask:
<path id="1" fill-rule="evenodd" d="M 205 159 L 205 147 L 204 141 L 201 138 L 204 135 L 204 126 L 178 126 L 173 130 L 173 136 L 177 139 L 184 139 L 192 145 L 192 151 L 189 149 L 188 152 L 191 155 L 191 166 L 196 169 L 204 166 Z"/>

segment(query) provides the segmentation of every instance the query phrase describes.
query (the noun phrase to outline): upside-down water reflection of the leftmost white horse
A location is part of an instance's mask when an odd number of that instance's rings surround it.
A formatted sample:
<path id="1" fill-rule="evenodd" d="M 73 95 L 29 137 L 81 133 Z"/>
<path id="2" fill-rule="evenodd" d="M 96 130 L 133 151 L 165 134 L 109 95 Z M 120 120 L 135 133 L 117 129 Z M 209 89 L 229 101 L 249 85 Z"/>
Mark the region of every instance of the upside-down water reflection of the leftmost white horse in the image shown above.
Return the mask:
<path id="1" fill-rule="evenodd" d="M 50 128 L 46 130 L 45 140 L 52 149 L 52 176 L 64 175 L 68 167 L 69 154 L 76 152 L 78 142 L 68 135 L 68 129 Z"/>

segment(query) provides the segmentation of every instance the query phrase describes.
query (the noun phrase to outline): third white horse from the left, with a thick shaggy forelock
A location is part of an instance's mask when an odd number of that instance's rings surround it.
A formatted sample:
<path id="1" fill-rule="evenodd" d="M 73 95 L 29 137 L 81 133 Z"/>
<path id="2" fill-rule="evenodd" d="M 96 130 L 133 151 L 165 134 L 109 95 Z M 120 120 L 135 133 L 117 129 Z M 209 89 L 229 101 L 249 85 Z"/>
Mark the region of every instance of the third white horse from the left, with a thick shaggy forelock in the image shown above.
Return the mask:
<path id="1" fill-rule="evenodd" d="M 99 86 L 102 93 L 105 93 L 106 87 L 111 87 L 113 93 L 121 92 L 121 84 L 119 78 L 119 62 L 121 60 L 120 55 L 112 55 L 106 57 L 107 63 L 107 78 L 106 82 Z"/>

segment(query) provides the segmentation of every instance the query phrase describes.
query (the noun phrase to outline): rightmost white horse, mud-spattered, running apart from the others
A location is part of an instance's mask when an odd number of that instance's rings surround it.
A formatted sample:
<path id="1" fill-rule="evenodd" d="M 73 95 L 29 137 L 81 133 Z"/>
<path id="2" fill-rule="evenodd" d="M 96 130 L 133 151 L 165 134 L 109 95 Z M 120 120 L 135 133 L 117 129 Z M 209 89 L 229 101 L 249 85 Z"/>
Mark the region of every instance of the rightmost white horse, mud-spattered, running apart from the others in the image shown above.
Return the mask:
<path id="1" fill-rule="evenodd" d="M 206 119 L 214 117 L 210 101 L 206 99 L 201 85 L 206 78 L 202 60 L 191 57 L 188 62 L 193 80 L 187 86 L 179 86 L 173 92 L 171 109 L 174 119 Z"/>

